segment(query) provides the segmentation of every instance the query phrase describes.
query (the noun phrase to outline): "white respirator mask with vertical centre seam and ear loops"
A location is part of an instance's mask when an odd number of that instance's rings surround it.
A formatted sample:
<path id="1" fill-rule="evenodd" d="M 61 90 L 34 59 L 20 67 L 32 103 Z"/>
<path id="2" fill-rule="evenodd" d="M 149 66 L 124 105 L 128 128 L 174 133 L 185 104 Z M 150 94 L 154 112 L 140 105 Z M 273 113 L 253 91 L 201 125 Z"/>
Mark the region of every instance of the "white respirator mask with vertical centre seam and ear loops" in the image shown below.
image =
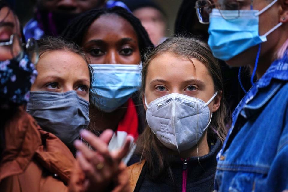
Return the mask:
<path id="1" fill-rule="evenodd" d="M 173 151 L 183 152 L 191 149 L 208 128 L 210 110 L 208 104 L 201 99 L 187 95 L 172 93 L 146 102 L 146 120 L 158 140 Z M 198 105 L 198 107 L 197 107 Z"/>

